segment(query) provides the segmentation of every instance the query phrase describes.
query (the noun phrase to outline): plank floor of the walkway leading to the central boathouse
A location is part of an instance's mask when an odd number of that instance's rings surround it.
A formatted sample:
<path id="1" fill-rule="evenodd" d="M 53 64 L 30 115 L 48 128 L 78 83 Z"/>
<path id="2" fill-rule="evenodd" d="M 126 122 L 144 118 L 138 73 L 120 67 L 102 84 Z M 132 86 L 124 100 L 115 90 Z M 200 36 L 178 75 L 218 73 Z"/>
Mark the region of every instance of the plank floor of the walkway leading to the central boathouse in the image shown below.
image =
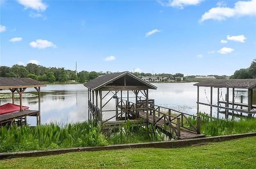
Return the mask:
<path id="1" fill-rule="evenodd" d="M 121 106 L 118 105 L 118 108 L 121 108 Z M 123 105 L 123 109 L 125 109 L 125 108 L 126 107 Z M 135 113 L 133 111 L 129 111 L 129 113 L 135 115 Z M 140 110 L 139 117 L 144 119 L 145 121 L 147 121 L 147 112 Z M 152 125 L 155 125 L 156 127 L 162 129 L 163 131 L 165 131 L 165 133 L 170 133 L 170 127 L 167 130 L 165 130 L 165 127 L 164 127 L 164 124 L 168 123 L 168 121 L 164 122 L 164 119 L 160 119 L 160 117 L 158 117 L 156 115 L 155 116 L 155 121 L 158 121 L 159 119 L 160 120 L 156 124 L 154 124 L 153 118 L 154 118 L 153 114 L 152 115 L 148 114 L 148 123 L 150 123 Z M 175 126 L 174 126 L 174 129 L 175 129 Z M 191 138 L 198 138 L 198 137 L 205 137 L 205 135 L 204 134 L 198 134 L 196 132 L 180 128 L 180 136 L 178 137 L 178 139 L 191 139 Z"/>

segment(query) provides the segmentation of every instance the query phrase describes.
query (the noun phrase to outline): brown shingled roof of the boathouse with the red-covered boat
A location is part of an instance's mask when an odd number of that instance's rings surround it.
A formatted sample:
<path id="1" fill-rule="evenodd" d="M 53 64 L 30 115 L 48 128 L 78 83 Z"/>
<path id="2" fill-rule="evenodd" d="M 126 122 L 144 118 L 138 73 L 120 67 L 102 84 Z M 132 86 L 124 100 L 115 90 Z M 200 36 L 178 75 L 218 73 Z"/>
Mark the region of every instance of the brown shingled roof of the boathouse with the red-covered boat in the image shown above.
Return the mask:
<path id="1" fill-rule="evenodd" d="M 0 77 L 0 89 L 14 89 L 22 87 L 42 87 L 46 86 L 31 78 L 7 78 Z"/>

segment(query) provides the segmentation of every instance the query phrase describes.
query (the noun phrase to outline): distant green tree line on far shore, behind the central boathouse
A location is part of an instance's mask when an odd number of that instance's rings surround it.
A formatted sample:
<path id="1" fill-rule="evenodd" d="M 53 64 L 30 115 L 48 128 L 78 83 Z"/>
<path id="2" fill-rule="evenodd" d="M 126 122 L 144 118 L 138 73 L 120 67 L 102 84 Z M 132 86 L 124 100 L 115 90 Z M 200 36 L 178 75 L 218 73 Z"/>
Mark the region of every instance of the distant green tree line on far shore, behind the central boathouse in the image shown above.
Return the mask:
<path id="1" fill-rule="evenodd" d="M 26 66 L 15 64 L 12 67 L 8 66 L 0 66 L 0 76 L 1 77 L 14 77 L 14 78 L 32 78 L 34 80 L 42 81 L 42 82 L 60 82 L 64 83 L 70 80 L 75 80 L 79 83 L 88 82 L 100 75 L 103 74 L 111 74 L 116 72 L 88 72 L 88 71 L 81 71 L 77 72 L 74 70 L 66 70 L 64 68 L 53 68 L 49 67 L 46 68 L 41 65 L 29 63 Z M 131 72 L 132 73 L 132 72 Z M 174 79 L 175 77 L 183 77 L 183 74 L 151 74 L 151 73 L 133 73 L 137 77 L 142 76 L 164 76 L 168 77 L 169 79 Z"/>

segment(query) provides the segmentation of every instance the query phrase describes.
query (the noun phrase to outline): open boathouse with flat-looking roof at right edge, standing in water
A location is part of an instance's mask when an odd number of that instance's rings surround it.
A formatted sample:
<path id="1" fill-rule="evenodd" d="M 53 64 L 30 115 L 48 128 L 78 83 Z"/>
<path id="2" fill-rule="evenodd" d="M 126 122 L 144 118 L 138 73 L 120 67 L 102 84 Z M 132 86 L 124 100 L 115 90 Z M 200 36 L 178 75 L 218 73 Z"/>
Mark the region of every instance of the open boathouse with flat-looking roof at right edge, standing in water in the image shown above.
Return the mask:
<path id="1" fill-rule="evenodd" d="M 239 116 L 249 116 L 253 117 L 256 113 L 256 105 L 253 105 L 253 89 L 256 89 L 256 79 L 216 79 L 216 80 L 205 80 L 194 84 L 197 86 L 197 112 L 199 112 L 199 105 L 210 106 L 210 116 L 212 117 L 212 107 L 217 108 L 217 118 L 219 113 L 224 113 L 225 118 L 228 119 L 228 115 Z M 202 87 L 210 87 L 210 101 L 209 103 L 202 103 L 199 100 L 199 90 Z M 217 103 L 214 104 L 213 97 L 213 88 L 217 88 Z M 221 89 L 221 92 L 220 92 Z M 224 96 L 225 99 L 221 101 L 222 89 L 226 90 Z M 243 97 L 240 98 L 240 101 L 235 101 L 237 93 L 235 90 L 243 90 L 248 93 L 248 100 L 243 100 Z M 236 94 L 235 94 L 236 93 Z"/>

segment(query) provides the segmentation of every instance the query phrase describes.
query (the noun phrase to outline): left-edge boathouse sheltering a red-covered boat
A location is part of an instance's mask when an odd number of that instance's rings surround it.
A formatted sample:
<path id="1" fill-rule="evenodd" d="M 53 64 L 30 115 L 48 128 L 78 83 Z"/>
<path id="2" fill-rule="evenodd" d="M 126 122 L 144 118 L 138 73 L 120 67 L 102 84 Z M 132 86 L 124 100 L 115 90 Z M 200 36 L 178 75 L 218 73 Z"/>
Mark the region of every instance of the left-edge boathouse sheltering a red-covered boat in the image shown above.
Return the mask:
<path id="1" fill-rule="evenodd" d="M 40 115 L 40 87 L 46 86 L 31 78 L 0 78 L 0 90 L 10 90 L 12 92 L 12 103 L 6 103 L 0 106 L 0 125 L 18 125 L 27 124 L 27 116 L 36 116 L 37 125 L 41 123 Z M 27 88 L 33 87 L 38 92 L 38 110 L 30 110 L 23 106 L 22 94 Z M 14 93 L 19 94 L 19 105 L 15 104 Z"/>

